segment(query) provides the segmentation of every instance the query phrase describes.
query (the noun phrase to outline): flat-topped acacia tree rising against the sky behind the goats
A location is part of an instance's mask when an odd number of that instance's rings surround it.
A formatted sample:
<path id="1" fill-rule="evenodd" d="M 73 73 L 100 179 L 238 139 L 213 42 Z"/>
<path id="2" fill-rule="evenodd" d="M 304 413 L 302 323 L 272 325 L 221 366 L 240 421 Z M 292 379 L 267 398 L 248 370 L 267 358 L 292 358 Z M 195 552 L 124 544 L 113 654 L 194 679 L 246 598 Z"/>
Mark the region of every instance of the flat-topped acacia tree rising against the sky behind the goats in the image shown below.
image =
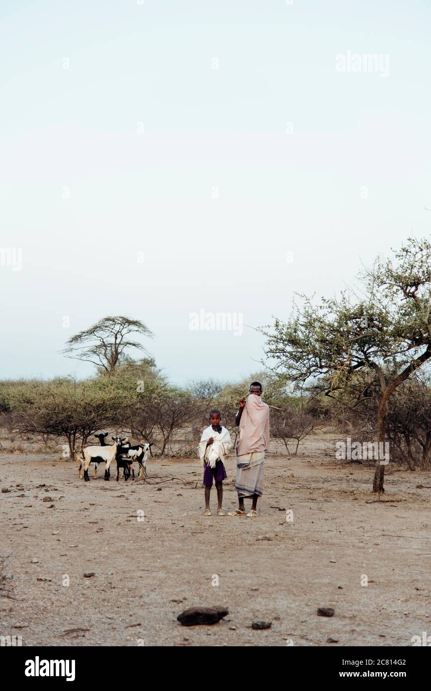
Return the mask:
<path id="1" fill-rule="evenodd" d="M 128 348 L 145 350 L 131 334 L 153 336 L 142 321 L 127 316 L 104 316 L 90 328 L 70 337 L 63 352 L 66 357 L 91 362 L 111 374 L 126 358 Z"/>

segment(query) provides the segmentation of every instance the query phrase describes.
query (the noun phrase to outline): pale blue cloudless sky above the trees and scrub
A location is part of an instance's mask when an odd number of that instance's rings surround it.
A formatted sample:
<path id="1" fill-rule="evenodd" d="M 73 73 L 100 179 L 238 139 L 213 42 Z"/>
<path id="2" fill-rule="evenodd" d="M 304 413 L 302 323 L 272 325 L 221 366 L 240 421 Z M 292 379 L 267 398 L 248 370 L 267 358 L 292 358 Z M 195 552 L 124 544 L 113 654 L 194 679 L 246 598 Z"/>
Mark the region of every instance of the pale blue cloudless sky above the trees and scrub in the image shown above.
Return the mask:
<path id="1" fill-rule="evenodd" d="M 3 0 L 0 378 L 91 375 L 66 340 L 124 314 L 172 381 L 239 379 L 295 292 L 429 237 L 430 20 L 425 0 Z"/>

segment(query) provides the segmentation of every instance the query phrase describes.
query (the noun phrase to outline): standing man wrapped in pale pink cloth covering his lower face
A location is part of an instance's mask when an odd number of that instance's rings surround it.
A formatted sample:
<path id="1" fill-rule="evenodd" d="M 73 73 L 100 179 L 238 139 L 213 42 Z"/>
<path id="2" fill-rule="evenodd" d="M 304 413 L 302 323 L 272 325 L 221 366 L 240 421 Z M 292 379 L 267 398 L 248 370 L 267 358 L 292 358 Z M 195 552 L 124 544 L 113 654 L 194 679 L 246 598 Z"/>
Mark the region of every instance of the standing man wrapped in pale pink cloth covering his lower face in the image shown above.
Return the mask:
<path id="1" fill-rule="evenodd" d="M 262 401 L 262 384 L 253 381 L 247 399 L 240 400 L 235 422 L 240 430 L 236 442 L 236 482 L 238 509 L 229 516 L 245 515 L 244 499 L 251 499 L 247 516 L 258 515 L 256 506 L 263 493 L 263 461 L 269 447 L 269 406 Z"/>

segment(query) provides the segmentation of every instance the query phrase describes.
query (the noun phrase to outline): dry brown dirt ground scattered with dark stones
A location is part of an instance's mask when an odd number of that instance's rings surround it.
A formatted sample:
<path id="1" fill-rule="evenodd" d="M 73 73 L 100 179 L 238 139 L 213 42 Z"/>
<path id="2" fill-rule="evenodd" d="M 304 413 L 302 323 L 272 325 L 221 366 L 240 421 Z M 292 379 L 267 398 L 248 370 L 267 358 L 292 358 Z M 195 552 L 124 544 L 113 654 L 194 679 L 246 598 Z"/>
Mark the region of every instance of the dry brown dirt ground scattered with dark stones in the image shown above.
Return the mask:
<path id="1" fill-rule="evenodd" d="M 150 459 L 146 483 L 112 471 L 104 482 L 104 466 L 93 480 L 90 466 L 84 482 L 58 456 L 3 453 L 0 634 L 23 645 L 412 645 L 431 632 L 431 473 L 388 466 L 379 501 L 372 468 L 336 462 L 330 438 L 267 457 L 258 518 L 205 518 L 197 460 Z M 226 511 L 234 472 L 231 458 Z M 193 605 L 229 615 L 183 627 Z M 271 628 L 252 630 L 258 620 Z"/>

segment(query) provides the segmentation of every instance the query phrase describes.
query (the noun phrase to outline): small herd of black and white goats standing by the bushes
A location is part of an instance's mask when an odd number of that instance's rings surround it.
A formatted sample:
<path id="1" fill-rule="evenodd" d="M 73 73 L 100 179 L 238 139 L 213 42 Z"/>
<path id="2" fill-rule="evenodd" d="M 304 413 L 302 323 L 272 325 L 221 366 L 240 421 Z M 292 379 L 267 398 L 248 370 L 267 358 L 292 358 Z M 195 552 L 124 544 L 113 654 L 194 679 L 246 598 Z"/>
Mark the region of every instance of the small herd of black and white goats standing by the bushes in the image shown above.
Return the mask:
<path id="1" fill-rule="evenodd" d="M 144 444 L 135 444 L 132 446 L 128 442 L 127 437 L 111 437 L 113 444 L 106 444 L 105 438 L 108 436 L 109 432 L 95 434 L 94 436 L 99 439 L 100 446 L 85 446 L 82 449 L 82 455 L 77 456 L 77 461 L 79 463 L 78 473 L 82 480 L 82 469 L 84 468 L 84 480 L 86 482 L 90 480 L 88 477 L 88 466 L 93 463 L 95 466 L 94 476 L 96 477 L 97 467 L 99 463 L 105 463 L 105 480 L 109 480 L 111 474 L 109 472 L 109 466 L 113 461 L 117 462 L 117 482 L 119 479 L 119 470 L 123 468 L 124 480 L 132 475 L 132 480 L 135 480 L 135 471 L 133 471 L 133 463 L 137 462 L 139 466 L 139 474 L 137 480 L 142 480 L 146 477 L 146 459 L 148 458 L 150 446 L 148 442 Z"/>

